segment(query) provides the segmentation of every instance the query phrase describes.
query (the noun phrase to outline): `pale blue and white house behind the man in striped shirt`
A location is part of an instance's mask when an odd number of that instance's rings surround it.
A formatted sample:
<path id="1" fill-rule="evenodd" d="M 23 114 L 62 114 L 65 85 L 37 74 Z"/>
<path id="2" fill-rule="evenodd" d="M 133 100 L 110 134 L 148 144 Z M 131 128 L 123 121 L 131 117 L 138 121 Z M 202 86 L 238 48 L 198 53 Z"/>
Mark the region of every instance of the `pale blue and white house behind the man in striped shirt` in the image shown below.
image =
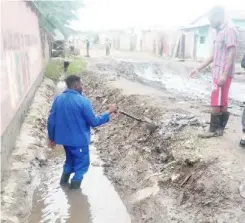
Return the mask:
<path id="1" fill-rule="evenodd" d="M 245 53 L 245 11 L 229 12 L 228 16 L 232 25 L 238 31 L 237 60 L 240 60 Z M 178 48 L 179 57 L 202 60 L 210 54 L 215 30 L 209 25 L 207 13 L 181 30 L 182 35 Z"/>

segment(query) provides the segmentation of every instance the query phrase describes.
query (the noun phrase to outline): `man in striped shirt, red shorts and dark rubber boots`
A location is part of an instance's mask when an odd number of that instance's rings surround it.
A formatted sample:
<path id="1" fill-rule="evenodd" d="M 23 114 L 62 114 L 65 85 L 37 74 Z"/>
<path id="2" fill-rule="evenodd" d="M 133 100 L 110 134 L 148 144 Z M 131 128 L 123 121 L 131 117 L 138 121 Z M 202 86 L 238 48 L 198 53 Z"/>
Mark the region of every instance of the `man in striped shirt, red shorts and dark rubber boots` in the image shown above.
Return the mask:
<path id="1" fill-rule="evenodd" d="M 212 64 L 213 88 L 211 92 L 212 113 L 210 126 L 207 132 L 199 134 L 199 137 L 209 138 L 222 136 L 229 120 L 228 97 L 229 89 L 234 74 L 237 32 L 225 22 L 225 11 L 220 6 L 214 7 L 209 12 L 209 21 L 216 30 L 216 38 L 213 44 L 212 55 L 194 69 L 190 76 L 195 76 L 200 70 Z"/>

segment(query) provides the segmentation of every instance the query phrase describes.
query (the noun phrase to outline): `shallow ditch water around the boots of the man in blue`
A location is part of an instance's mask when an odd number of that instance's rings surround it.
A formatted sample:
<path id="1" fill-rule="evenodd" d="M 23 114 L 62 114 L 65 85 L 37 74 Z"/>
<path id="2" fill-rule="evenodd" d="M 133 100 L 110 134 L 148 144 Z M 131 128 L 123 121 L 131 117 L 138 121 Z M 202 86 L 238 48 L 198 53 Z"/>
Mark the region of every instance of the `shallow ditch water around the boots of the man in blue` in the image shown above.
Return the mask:
<path id="1" fill-rule="evenodd" d="M 91 146 L 91 163 L 101 163 Z M 60 187 L 64 155 L 55 151 L 52 164 L 43 170 L 35 190 L 30 223 L 130 223 L 130 217 L 101 166 L 90 166 L 81 190 Z M 51 162 L 50 162 L 51 163 Z"/>

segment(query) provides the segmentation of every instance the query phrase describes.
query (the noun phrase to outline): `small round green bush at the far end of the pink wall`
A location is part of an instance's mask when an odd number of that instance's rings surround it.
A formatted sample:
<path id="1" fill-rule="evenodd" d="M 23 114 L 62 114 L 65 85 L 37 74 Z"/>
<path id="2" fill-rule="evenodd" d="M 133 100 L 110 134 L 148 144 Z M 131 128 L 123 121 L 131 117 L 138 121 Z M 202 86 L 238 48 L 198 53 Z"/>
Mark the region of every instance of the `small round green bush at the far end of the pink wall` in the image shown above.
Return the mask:
<path id="1" fill-rule="evenodd" d="M 63 72 L 63 62 L 60 60 L 50 60 L 45 68 L 45 76 L 54 81 L 57 81 L 60 77 L 60 74 Z"/>

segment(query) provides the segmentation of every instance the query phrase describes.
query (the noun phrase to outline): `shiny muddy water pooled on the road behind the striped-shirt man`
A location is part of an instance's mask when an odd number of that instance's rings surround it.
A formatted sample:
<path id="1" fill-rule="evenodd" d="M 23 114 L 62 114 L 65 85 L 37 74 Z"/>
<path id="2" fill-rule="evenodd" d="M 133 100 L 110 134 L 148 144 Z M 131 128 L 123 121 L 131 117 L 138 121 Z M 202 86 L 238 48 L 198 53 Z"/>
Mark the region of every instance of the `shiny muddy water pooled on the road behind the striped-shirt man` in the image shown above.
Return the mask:
<path id="1" fill-rule="evenodd" d="M 209 104 L 209 96 L 212 89 L 211 74 L 200 74 L 197 78 L 190 79 L 188 77 L 188 71 L 186 71 L 186 75 L 177 74 L 166 69 L 160 64 L 157 66 L 158 72 L 156 73 L 156 66 L 151 63 L 145 63 L 147 65 L 142 68 L 142 61 L 139 62 L 137 60 L 129 59 L 118 59 L 117 61 L 132 63 L 134 66 L 134 72 L 137 76 L 148 81 L 159 82 L 164 85 L 169 92 L 173 92 L 178 95 L 185 95 L 193 99 L 200 98 L 205 101 L 205 103 Z M 230 89 L 232 113 L 241 115 L 240 104 L 245 99 L 244 92 L 245 82 L 234 80 Z"/>

